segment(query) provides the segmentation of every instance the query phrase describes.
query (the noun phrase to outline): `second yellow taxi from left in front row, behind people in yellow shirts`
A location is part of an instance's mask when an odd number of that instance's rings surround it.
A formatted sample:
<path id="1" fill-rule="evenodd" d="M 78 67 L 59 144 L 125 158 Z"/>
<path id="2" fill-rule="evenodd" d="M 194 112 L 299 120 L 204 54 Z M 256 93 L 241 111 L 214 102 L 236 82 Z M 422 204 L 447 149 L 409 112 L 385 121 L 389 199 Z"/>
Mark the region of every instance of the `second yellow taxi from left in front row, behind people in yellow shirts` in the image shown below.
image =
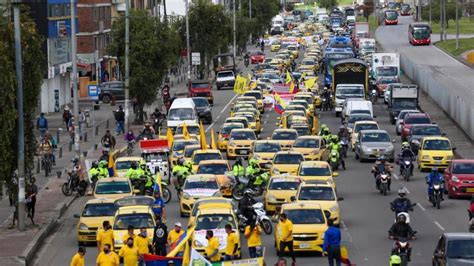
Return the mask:
<path id="1" fill-rule="evenodd" d="M 152 210 L 154 198 L 148 196 L 133 196 L 115 201 L 117 211 L 114 215 L 114 250 L 118 252 L 122 246 L 122 239 L 127 234 L 128 227 L 133 226 L 134 233 L 140 233 L 140 228 L 145 227 L 147 237 L 151 244 L 155 229 L 155 216 Z"/>

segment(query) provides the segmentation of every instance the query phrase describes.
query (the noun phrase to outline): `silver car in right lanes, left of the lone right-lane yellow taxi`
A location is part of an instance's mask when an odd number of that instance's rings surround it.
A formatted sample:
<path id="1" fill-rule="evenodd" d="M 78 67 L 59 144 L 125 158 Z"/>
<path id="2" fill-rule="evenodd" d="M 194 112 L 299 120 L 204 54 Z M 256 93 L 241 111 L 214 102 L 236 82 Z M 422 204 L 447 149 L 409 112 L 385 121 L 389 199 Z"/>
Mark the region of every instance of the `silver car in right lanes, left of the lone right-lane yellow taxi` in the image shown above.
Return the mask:
<path id="1" fill-rule="evenodd" d="M 392 142 L 385 130 L 362 130 L 356 140 L 355 157 L 363 162 L 385 156 L 388 161 L 393 162 L 395 151 Z"/>

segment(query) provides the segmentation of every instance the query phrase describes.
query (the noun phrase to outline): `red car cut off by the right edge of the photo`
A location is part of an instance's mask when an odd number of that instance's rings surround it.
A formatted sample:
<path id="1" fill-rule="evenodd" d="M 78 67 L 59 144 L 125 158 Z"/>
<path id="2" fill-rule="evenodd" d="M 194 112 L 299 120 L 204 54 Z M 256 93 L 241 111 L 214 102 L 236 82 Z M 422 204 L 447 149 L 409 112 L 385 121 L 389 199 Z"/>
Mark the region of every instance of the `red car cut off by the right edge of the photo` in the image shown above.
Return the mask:
<path id="1" fill-rule="evenodd" d="M 448 196 L 471 197 L 474 195 L 474 160 L 452 160 L 444 170 Z"/>

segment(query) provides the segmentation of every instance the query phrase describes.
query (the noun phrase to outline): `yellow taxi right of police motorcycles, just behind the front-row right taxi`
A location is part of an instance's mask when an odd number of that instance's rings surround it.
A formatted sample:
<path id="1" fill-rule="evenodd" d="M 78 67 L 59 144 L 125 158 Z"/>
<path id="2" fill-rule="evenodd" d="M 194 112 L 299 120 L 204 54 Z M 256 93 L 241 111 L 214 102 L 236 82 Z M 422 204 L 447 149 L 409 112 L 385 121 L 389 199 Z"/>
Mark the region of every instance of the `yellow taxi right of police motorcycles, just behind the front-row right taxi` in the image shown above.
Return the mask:
<path id="1" fill-rule="evenodd" d="M 275 175 L 268 180 L 267 189 L 263 192 L 263 204 L 267 213 L 274 213 L 283 203 L 291 202 L 296 197 L 301 178 L 294 175 Z"/>

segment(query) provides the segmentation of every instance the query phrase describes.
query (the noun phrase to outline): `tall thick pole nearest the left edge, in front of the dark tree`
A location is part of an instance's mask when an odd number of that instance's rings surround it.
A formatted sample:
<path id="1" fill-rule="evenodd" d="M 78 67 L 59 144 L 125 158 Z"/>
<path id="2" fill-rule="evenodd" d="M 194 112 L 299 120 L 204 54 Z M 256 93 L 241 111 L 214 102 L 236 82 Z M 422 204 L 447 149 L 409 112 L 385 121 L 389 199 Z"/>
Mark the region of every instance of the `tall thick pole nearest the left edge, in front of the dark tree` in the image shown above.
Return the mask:
<path id="1" fill-rule="evenodd" d="M 20 3 L 13 3 L 13 20 L 15 27 L 15 70 L 16 70 L 16 104 L 18 112 L 18 230 L 25 231 L 25 121 L 23 114 L 23 69 L 21 59 L 21 26 Z"/>

